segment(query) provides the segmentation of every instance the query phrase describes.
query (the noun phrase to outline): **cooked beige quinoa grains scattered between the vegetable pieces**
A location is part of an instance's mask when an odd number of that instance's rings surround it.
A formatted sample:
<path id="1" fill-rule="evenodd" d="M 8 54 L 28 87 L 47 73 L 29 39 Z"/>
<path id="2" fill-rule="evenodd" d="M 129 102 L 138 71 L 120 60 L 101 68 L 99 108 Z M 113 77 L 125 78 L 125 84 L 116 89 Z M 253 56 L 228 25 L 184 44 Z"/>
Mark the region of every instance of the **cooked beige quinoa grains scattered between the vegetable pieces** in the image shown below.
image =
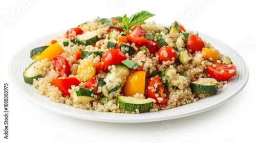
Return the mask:
<path id="1" fill-rule="evenodd" d="M 174 47 L 178 56 L 180 52 L 179 50 L 184 50 L 184 48 L 186 48 L 186 41 L 184 41 L 185 36 L 182 32 L 177 32 L 171 27 L 168 27 L 168 31 L 166 27 L 157 25 L 156 22 L 154 21 L 144 22 L 141 25 L 141 27 L 143 28 L 146 34 L 151 33 L 154 36 L 161 34 L 163 40 L 168 44 L 168 46 Z M 105 77 L 108 75 L 108 73 L 96 71 L 96 68 L 94 66 L 91 66 L 96 63 L 100 63 L 101 56 L 92 54 L 84 59 L 76 58 L 76 52 L 81 50 L 100 50 L 103 52 L 110 50 L 108 49 L 108 41 L 118 43 L 119 37 L 122 36 L 124 32 L 113 30 L 112 35 L 110 37 L 108 32 L 110 26 L 102 22 L 96 22 L 95 19 L 83 23 L 82 25 L 79 25 L 79 28 L 82 29 L 84 33 L 97 32 L 99 40 L 92 45 L 84 46 L 79 43 L 73 43 L 70 39 L 66 37 L 67 35 L 65 34 L 63 34 L 62 36 L 57 36 L 55 38 L 55 40 L 60 44 L 60 46 L 65 51 L 62 54 L 60 54 L 60 56 L 64 57 L 70 65 L 70 75 L 68 77 L 76 77 L 80 81 L 80 84 L 77 86 L 72 86 L 72 88 L 69 89 L 69 92 L 71 93 L 72 89 L 86 86 L 87 83 L 89 83 L 88 80 L 92 77 L 96 81 L 98 81 L 100 78 L 104 78 L 104 82 L 108 83 L 104 85 L 105 88 L 111 88 L 113 85 L 116 85 L 118 83 L 124 85 L 126 77 L 123 78 L 122 71 L 115 75 L 115 78 L 106 79 Z M 188 33 L 194 34 L 193 32 Z M 80 36 L 82 35 L 78 35 L 77 37 L 79 38 Z M 156 39 L 154 40 L 156 41 Z M 63 42 L 69 42 L 69 44 L 67 46 L 64 46 Z M 47 41 L 45 43 L 45 45 L 50 44 L 51 41 Z M 175 61 L 175 59 L 171 61 L 160 62 L 158 53 L 150 53 L 150 50 L 148 49 L 141 51 L 140 47 L 138 47 L 138 45 L 134 42 L 126 41 L 125 44 L 130 45 L 135 49 L 135 54 L 132 56 L 126 54 L 126 58 L 132 60 L 133 62 L 139 65 L 139 69 L 130 69 L 131 73 L 138 70 L 143 70 L 146 72 L 144 93 L 136 93 L 134 94 L 133 97 L 141 99 L 146 98 L 148 100 L 152 100 L 154 102 L 154 105 L 153 108 L 150 109 L 150 112 L 172 109 L 189 103 L 197 102 L 202 98 L 211 96 L 210 94 L 197 94 L 191 92 L 191 89 L 189 87 L 191 81 L 200 80 L 204 83 L 218 83 L 218 89 L 222 88 L 225 84 L 227 84 L 227 81 L 218 82 L 210 77 L 206 70 L 207 65 L 212 65 L 213 67 L 215 67 L 216 65 L 213 64 L 211 60 L 206 60 L 204 58 L 204 55 L 202 55 L 200 51 L 196 52 L 195 54 L 191 54 L 188 51 L 187 53 L 189 56 L 189 61 L 183 64 L 179 64 L 177 61 Z M 154 44 L 157 43 L 154 42 Z M 205 47 L 214 50 L 215 52 L 221 55 L 221 53 L 218 50 L 216 50 L 215 47 L 212 46 L 210 43 L 204 41 L 204 44 Z M 58 77 L 58 70 L 54 69 L 52 61 L 48 61 L 47 58 L 42 61 L 37 61 L 37 59 L 38 57 L 34 60 L 36 62 L 34 71 L 35 73 L 40 74 L 42 78 L 39 78 L 38 80 L 34 79 L 33 87 L 37 89 L 38 94 L 48 97 L 50 101 L 67 104 L 75 108 L 95 110 L 98 112 L 140 113 L 138 109 L 133 112 L 125 111 L 123 109 L 120 109 L 117 105 L 116 97 L 118 95 L 125 96 L 123 92 L 123 87 L 112 93 L 111 100 L 104 98 L 101 89 L 98 89 L 97 92 L 94 94 L 92 101 L 82 103 L 73 102 L 72 94 L 71 96 L 63 96 L 60 89 L 53 85 L 52 79 L 61 79 L 65 77 Z M 218 60 L 217 62 L 221 63 L 220 60 Z M 148 98 L 146 90 L 157 90 L 158 85 L 162 84 L 161 82 L 156 82 L 154 86 L 148 86 L 148 83 L 153 79 L 152 75 L 155 71 L 164 72 L 164 70 L 167 67 L 169 68 L 169 70 L 166 71 L 166 77 L 162 79 L 162 82 L 168 82 L 172 84 L 172 87 L 169 87 L 167 89 L 168 94 L 164 93 L 164 97 L 161 97 L 159 93 L 155 94 L 159 102 L 163 101 L 164 98 L 168 99 L 167 104 L 162 105 L 157 104 L 155 99 Z M 63 66 L 63 68 L 65 68 L 65 66 Z M 115 68 L 115 65 L 108 66 L 108 69 L 112 71 L 116 70 Z M 87 70 L 84 71 L 84 69 Z M 78 75 L 78 73 L 81 72 L 83 73 Z M 234 72 L 234 70 L 230 69 L 229 73 L 232 72 Z M 95 84 L 95 87 L 97 88 L 97 84 Z"/>

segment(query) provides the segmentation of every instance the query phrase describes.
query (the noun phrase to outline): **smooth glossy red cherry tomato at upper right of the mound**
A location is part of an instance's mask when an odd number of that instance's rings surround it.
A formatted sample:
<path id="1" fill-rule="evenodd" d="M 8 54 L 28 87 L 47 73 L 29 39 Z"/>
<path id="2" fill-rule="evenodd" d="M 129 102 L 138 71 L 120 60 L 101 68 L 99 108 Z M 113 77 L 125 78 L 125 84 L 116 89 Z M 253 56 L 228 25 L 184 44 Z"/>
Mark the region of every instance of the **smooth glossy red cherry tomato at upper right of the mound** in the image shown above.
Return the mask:
<path id="1" fill-rule="evenodd" d="M 199 36 L 191 34 L 187 37 L 186 45 L 188 52 L 195 54 L 197 51 L 202 51 L 204 42 Z"/>

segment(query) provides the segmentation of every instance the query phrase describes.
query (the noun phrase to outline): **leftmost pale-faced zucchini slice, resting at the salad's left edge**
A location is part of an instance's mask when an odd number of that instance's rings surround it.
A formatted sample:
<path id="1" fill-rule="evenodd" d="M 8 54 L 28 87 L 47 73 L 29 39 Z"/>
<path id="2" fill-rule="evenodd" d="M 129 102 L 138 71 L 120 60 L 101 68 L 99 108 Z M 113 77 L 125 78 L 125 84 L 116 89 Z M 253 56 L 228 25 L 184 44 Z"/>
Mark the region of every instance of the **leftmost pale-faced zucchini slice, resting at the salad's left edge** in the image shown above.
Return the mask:
<path id="1" fill-rule="evenodd" d="M 23 72 L 24 81 L 28 84 L 33 84 L 33 79 L 38 80 L 39 78 L 42 78 L 40 74 L 36 74 L 35 72 L 36 70 L 35 63 L 36 62 L 33 62 L 32 64 L 30 64 L 29 67 L 26 68 L 25 71 Z"/>

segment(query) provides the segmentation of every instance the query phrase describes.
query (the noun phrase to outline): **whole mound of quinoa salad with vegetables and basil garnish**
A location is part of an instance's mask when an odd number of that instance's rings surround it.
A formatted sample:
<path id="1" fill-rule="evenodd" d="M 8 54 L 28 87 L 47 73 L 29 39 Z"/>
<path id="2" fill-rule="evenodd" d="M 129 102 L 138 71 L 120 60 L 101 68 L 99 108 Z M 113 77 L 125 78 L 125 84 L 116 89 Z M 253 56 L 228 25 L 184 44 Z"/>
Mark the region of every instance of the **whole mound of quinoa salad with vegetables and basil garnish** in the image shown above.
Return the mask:
<path id="1" fill-rule="evenodd" d="M 30 52 L 24 81 L 50 101 L 113 113 L 172 109 L 218 96 L 236 74 L 228 55 L 147 11 L 95 18 Z"/>

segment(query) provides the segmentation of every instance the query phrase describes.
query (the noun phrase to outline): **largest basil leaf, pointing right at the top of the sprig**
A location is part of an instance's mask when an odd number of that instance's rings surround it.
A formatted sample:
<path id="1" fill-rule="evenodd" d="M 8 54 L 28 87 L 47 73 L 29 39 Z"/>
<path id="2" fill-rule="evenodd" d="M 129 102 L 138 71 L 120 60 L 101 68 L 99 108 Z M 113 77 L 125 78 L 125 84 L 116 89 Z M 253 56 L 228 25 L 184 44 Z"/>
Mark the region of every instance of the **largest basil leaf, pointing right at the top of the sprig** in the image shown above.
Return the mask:
<path id="1" fill-rule="evenodd" d="M 150 12 L 147 11 L 140 11 L 137 12 L 135 14 L 133 14 L 129 19 L 129 22 L 131 23 L 131 27 L 140 24 L 142 22 L 144 22 L 146 19 L 155 16 L 155 14 L 152 14 Z M 131 28 L 130 27 L 130 28 Z"/>

